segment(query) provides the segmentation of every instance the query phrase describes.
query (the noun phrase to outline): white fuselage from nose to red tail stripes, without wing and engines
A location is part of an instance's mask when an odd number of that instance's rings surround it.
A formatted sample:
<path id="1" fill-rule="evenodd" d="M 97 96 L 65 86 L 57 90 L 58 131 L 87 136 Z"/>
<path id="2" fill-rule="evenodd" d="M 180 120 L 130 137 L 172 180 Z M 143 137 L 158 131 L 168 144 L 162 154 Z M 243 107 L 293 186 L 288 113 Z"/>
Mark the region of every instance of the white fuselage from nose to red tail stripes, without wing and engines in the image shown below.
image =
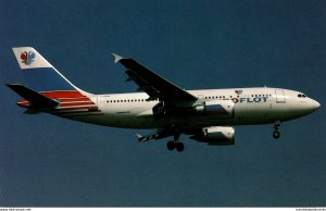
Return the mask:
<path id="1" fill-rule="evenodd" d="M 166 124 L 183 127 L 217 125 L 266 124 L 288 121 L 315 111 L 319 104 L 303 94 L 279 88 L 229 88 L 188 90 L 200 102 L 229 102 L 234 113 L 229 117 L 215 115 L 173 115 L 155 121 L 152 108 L 159 100 L 146 101 L 146 92 L 91 95 L 102 115 L 76 116 L 76 121 L 125 128 L 158 128 Z M 299 97 L 304 96 L 304 97 Z"/>

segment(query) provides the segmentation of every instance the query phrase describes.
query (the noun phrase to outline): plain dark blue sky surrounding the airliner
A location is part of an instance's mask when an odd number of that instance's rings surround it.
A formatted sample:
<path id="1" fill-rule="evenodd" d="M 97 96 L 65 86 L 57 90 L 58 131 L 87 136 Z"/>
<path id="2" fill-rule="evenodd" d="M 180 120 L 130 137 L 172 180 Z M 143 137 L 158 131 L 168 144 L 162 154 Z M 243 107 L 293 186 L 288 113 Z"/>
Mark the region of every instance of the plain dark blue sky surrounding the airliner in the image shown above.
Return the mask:
<path id="1" fill-rule="evenodd" d="M 1 1 L 0 206 L 326 206 L 326 1 Z M 35 47 L 79 88 L 127 92 L 111 53 L 186 89 L 301 90 L 315 113 L 237 126 L 236 145 L 139 144 L 151 131 L 26 115 L 4 86 L 23 83 L 11 48 Z"/>

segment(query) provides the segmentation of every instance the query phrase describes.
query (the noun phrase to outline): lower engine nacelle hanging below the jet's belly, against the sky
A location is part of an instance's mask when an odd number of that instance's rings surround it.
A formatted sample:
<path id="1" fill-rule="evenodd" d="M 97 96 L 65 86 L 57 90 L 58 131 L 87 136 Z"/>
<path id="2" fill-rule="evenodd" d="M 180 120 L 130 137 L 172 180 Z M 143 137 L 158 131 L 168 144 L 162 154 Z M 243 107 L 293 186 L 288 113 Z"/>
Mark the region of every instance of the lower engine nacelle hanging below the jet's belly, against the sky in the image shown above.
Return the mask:
<path id="1" fill-rule="evenodd" d="M 190 138 L 200 142 L 208 142 L 209 145 L 234 145 L 235 128 L 222 126 L 204 127 L 200 134 Z"/>

